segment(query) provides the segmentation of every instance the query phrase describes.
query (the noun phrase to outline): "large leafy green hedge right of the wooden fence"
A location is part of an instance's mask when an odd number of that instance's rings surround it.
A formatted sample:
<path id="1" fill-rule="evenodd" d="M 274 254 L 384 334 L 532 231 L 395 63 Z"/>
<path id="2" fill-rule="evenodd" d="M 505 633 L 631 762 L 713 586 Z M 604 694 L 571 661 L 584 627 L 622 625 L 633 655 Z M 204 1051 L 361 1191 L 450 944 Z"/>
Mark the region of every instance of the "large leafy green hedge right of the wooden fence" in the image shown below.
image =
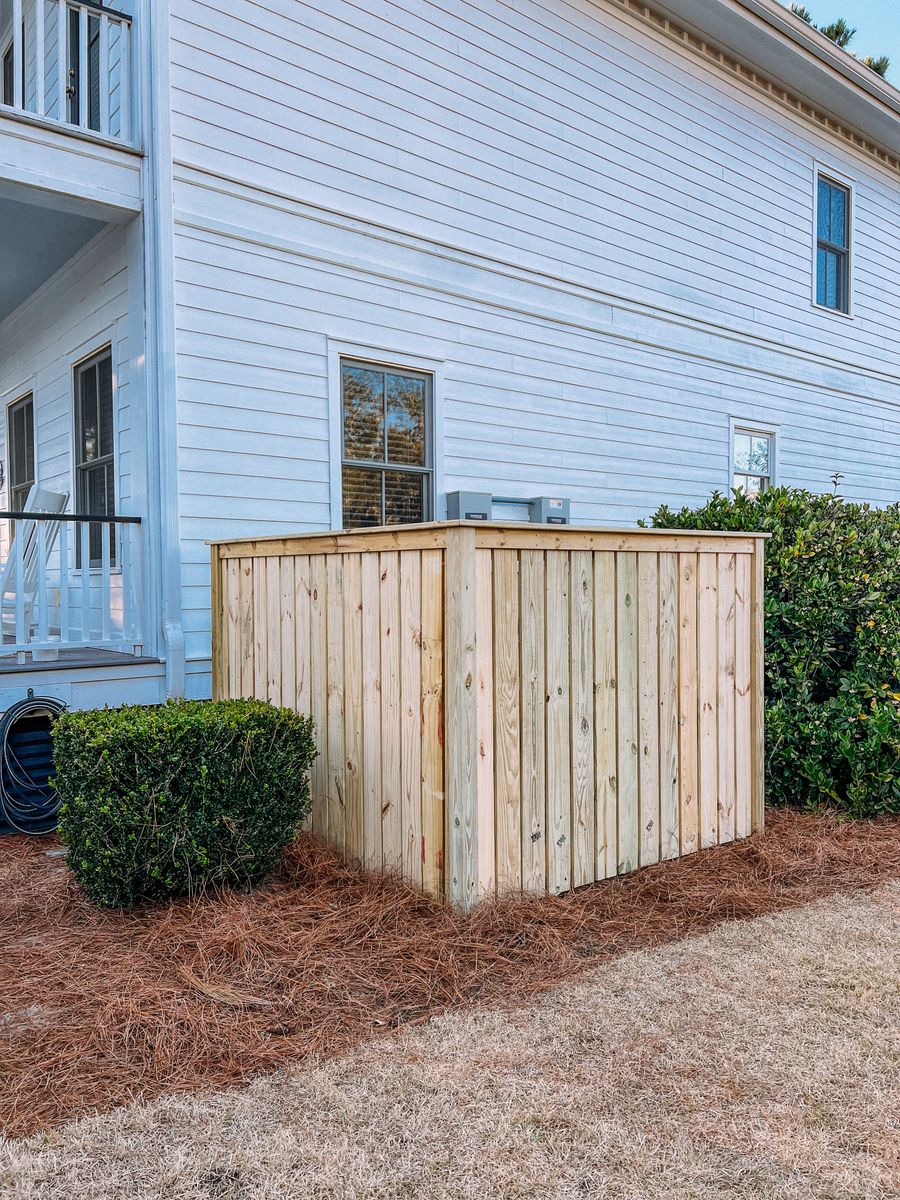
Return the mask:
<path id="1" fill-rule="evenodd" d="M 662 506 L 670 529 L 766 544 L 767 799 L 900 812 L 900 506 L 773 488 Z"/>

